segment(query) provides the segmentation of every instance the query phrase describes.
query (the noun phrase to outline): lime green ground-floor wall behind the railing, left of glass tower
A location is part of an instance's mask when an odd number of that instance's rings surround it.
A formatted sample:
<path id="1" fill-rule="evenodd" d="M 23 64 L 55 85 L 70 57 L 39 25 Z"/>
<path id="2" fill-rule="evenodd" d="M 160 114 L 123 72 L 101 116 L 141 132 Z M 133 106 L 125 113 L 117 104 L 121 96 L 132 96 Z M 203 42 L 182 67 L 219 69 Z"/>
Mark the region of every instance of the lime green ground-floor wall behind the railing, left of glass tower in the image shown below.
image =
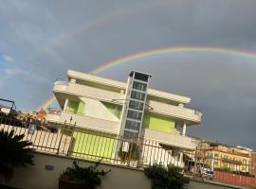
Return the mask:
<path id="1" fill-rule="evenodd" d="M 72 156 L 83 159 L 101 159 L 110 161 L 115 153 L 115 135 L 104 135 L 100 132 L 74 131 Z"/>

